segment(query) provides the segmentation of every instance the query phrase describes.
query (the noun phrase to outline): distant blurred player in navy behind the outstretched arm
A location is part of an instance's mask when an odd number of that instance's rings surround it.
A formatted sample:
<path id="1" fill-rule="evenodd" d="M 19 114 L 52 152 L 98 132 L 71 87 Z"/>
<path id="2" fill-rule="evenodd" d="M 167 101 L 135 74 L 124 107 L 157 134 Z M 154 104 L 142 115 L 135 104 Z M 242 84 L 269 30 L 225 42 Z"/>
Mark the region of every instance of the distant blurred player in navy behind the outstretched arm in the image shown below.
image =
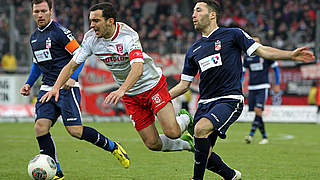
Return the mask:
<path id="1" fill-rule="evenodd" d="M 260 43 L 260 38 L 257 36 L 253 37 L 256 43 Z M 249 96 L 248 105 L 249 111 L 254 111 L 256 116 L 252 122 L 251 130 L 248 136 L 245 137 L 245 142 L 250 144 L 253 140 L 254 133 L 259 128 L 262 134 L 262 140 L 259 144 L 267 144 L 269 142 L 262 120 L 262 112 L 264 109 L 265 101 L 268 97 L 269 84 L 269 69 L 270 66 L 273 68 L 275 73 L 275 85 L 274 93 L 280 92 L 280 69 L 278 62 L 263 59 L 259 56 L 248 56 L 245 55 L 243 59 L 243 76 L 246 69 L 249 69 Z"/>

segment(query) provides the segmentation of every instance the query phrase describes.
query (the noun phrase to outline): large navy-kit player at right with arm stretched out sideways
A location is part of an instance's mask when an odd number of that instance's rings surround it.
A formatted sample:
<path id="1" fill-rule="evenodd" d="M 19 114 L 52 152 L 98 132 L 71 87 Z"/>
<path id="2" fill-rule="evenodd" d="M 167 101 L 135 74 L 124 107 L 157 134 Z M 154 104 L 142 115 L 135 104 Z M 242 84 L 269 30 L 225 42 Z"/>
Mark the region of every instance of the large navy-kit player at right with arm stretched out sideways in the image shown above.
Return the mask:
<path id="1" fill-rule="evenodd" d="M 212 152 L 217 138 L 226 138 L 229 126 L 243 109 L 241 52 L 266 59 L 314 59 L 313 53 L 305 47 L 283 51 L 254 42 L 239 28 L 219 27 L 219 16 L 220 7 L 216 1 L 196 1 L 192 20 L 202 38 L 188 49 L 181 80 L 169 91 L 172 98 L 182 95 L 199 72 L 200 97 L 194 116 L 194 180 L 203 179 L 206 168 L 225 180 L 241 179 L 239 171 L 231 169 Z"/>

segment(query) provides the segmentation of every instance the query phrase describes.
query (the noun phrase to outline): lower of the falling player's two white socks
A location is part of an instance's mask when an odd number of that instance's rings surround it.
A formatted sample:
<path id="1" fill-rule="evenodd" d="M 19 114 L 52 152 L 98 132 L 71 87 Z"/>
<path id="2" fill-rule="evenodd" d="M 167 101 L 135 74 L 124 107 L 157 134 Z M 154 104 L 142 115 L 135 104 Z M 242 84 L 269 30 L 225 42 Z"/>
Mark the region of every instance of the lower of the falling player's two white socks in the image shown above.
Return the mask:
<path id="1" fill-rule="evenodd" d="M 170 139 L 164 134 L 160 134 L 159 136 L 162 141 L 161 151 L 191 150 L 191 146 L 187 141 L 182 139 Z"/>

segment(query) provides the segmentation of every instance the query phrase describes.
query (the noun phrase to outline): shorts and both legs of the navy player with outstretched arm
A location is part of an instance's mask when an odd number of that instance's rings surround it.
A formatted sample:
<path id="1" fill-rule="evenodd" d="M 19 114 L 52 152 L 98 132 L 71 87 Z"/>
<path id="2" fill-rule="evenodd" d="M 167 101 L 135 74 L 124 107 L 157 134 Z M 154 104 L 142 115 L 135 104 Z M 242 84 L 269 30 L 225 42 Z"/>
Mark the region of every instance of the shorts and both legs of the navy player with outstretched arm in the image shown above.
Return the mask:
<path id="1" fill-rule="evenodd" d="M 195 180 L 203 179 L 205 168 L 212 169 L 212 166 L 216 163 L 219 164 L 220 169 L 215 169 L 215 171 L 219 172 L 218 174 L 222 175 L 223 178 L 229 179 L 235 176 L 235 170 L 229 168 L 217 154 L 210 152 L 217 136 L 220 136 L 220 138 L 226 137 L 226 131 L 238 119 L 242 108 L 242 101 L 230 99 L 219 100 L 205 105 L 199 104 L 195 115 Z M 211 155 L 213 156 L 211 157 Z"/>

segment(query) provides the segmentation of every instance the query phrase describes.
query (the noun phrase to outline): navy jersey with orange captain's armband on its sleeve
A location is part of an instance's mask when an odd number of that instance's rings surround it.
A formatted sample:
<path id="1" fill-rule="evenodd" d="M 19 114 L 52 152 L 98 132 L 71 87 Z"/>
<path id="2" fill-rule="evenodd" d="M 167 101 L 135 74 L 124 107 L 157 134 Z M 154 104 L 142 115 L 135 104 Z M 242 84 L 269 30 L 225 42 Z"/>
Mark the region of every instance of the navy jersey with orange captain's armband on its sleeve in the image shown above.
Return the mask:
<path id="1" fill-rule="evenodd" d="M 54 21 L 43 29 L 37 28 L 31 35 L 30 44 L 33 62 L 43 74 L 43 85 L 48 86 L 54 85 L 60 71 L 79 47 L 71 31 Z"/>

